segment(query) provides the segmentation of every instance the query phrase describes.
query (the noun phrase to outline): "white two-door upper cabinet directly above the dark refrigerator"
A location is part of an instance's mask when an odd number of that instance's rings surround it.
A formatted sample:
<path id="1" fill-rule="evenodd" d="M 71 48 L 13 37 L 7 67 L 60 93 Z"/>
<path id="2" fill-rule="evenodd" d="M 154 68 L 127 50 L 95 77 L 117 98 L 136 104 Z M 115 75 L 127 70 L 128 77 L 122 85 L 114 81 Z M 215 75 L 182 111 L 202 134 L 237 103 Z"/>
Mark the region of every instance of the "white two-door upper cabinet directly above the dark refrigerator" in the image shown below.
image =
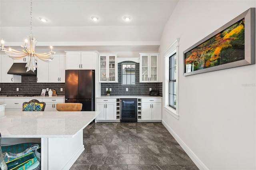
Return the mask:
<path id="1" fill-rule="evenodd" d="M 96 69 L 96 52 L 66 51 L 67 69 Z"/>

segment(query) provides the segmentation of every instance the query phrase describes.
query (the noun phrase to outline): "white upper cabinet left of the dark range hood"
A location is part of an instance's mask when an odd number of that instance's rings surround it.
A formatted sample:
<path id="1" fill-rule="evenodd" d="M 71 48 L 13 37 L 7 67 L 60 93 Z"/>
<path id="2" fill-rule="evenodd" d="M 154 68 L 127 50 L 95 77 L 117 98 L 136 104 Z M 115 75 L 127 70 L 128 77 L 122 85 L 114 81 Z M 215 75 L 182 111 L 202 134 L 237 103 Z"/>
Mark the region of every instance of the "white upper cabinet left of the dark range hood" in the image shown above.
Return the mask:
<path id="1" fill-rule="evenodd" d="M 1 83 L 21 83 L 21 75 L 8 74 L 13 61 L 9 56 L 1 55 Z"/>

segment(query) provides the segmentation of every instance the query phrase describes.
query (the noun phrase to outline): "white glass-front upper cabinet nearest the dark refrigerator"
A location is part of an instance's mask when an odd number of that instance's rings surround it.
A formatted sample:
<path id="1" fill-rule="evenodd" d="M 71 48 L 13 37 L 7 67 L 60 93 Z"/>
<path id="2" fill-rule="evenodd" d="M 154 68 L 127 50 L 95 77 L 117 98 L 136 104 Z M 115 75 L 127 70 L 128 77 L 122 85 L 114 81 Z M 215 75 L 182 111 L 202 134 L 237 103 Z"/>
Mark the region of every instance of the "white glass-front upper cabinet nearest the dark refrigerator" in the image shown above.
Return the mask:
<path id="1" fill-rule="evenodd" d="M 117 83 L 117 61 L 116 54 L 99 54 L 100 83 Z"/>

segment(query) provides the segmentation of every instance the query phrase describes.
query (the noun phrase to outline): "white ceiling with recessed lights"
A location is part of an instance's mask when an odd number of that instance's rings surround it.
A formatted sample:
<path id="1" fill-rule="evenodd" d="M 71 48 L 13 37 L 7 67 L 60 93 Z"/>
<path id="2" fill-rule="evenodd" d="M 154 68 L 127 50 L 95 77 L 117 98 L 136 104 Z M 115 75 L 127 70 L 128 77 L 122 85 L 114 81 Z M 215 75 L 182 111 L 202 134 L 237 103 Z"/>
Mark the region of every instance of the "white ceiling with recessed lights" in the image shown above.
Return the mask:
<path id="1" fill-rule="evenodd" d="M 37 49 L 158 51 L 178 0 L 32 0 Z M 100 20 L 94 22 L 92 16 Z M 130 22 L 123 20 L 131 16 Z M 39 17 L 48 19 L 43 23 Z M 0 38 L 20 46 L 30 35 L 30 0 L 0 0 Z"/>

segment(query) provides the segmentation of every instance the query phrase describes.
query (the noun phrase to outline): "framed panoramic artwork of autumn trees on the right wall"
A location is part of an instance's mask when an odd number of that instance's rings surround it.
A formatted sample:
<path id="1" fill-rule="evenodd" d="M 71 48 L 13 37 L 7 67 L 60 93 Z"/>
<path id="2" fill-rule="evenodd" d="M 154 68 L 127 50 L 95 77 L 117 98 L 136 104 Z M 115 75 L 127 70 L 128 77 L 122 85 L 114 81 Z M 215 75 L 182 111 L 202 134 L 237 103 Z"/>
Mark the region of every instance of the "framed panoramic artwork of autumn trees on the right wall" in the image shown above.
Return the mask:
<path id="1" fill-rule="evenodd" d="M 255 8 L 183 52 L 184 76 L 255 64 Z"/>

